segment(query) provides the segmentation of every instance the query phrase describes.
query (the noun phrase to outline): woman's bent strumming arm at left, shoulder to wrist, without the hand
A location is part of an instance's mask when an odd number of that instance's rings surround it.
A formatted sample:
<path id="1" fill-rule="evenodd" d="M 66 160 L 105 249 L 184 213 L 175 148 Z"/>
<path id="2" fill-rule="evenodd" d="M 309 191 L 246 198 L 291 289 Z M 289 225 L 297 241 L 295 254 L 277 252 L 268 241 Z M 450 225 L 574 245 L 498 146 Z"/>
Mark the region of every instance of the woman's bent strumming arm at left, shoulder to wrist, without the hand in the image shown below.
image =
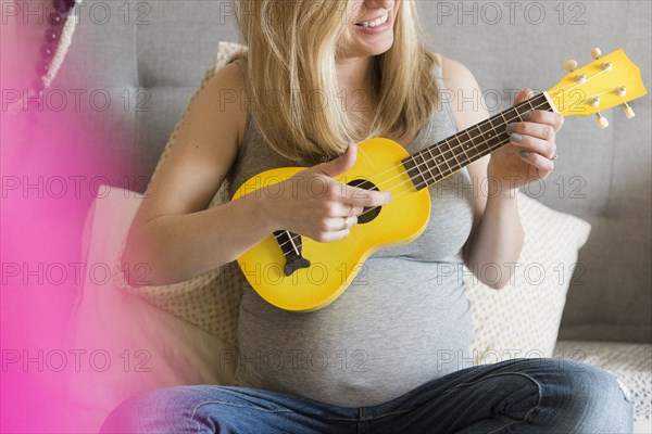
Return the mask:
<path id="1" fill-rule="evenodd" d="M 242 141 L 246 111 L 225 104 L 241 94 L 240 67 L 217 72 L 186 114 L 178 138 L 129 230 L 123 264 L 145 263 L 148 273 L 130 284 L 176 283 L 233 260 L 269 233 L 255 197 L 206 209 L 234 164 Z M 129 279 L 131 273 L 126 273 Z"/>

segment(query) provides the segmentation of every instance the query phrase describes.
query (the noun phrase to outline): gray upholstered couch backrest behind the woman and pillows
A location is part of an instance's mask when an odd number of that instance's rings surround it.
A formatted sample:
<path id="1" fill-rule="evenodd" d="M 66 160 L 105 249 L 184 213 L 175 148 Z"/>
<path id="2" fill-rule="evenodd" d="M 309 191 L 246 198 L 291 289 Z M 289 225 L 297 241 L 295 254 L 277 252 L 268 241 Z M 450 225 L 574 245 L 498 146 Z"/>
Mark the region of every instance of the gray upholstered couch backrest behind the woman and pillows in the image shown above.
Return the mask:
<path id="1" fill-rule="evenodd" d="M 102 3 L 113 18 L 90 20 L 93 3 Z M 98 142 L 111 143 L 114 159 L 106 163 L 122 167 L 130 189 L 142 191 L 175 123 L 214 64 L 217 42 L 239 41 L 239 36 L 230 1 L 130 1 L 128 14 L 118 9 L 123 3 L 86 2 L 58 80 L 106 89 L 121 102 L 90 113 L 88 122 Z M 564 61 L 588 63 L 594 46 L 604 53 L 624 48 L 652 89 L 649 1 L 518 4 L 421 2 L 432 49 L 475 74 L 492 112 L 507 108 L 518 89 L 552 87 L 565 74 Z M 133 99 L 127 107 L 117 97 L 125 90 Z M 650 101 L 632 104 L 632 120 L 619 108 L 607 112 L 606 130 L 593 117 L 567 118 L 555 171 L 540 196 L 592 226 L 579 256 L 581 283 L 572 284 L 567 295 L 560 345 L 585 345 L 588 359 L 599 363 L 629 354 L 628 343 L 652 339 Z M 124 187 L 121 179 L 112 182 Z M 631 366 L 650 370 L 650 347 L 636 348 Z M 627 370 L 628 361 L 623 363 Z M 642 387 L 637 394 L 649 408 L 650 381 Z"/>

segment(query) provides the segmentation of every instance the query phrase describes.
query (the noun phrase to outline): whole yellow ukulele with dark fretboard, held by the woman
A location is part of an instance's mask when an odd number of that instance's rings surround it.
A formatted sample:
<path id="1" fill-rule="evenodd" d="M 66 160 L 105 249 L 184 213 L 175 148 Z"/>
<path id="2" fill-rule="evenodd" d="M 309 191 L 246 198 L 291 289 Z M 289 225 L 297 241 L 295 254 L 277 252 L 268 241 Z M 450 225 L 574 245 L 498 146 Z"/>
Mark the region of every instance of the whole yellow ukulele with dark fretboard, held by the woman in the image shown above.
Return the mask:
<path id="1" fill-rule="evenodd" d="M 238 258 L 251 286 L 268 303 L 287 310 L 310 311 L 333 303 L 361 270 L 374 252 L 409 243 L 425 230 L 430 217 L 430 195 L 426 187 L 462 169 L 509 142 L 507 124 L 522 120 L 531 110 L 557 112 L 564 116 L 597 115 L 601 128 L 607 126 L 599 110 L 623 105 L 634 117 L 628 101 L 647 93 L 639 68 L 623 50 L 600 56 L 575 71 L 577 63 L 564 65 L 569 74 L 554 88 L 491 116 L 450 138 L 409 155 L 388 139 L 369 139 L 360 144 L 353 167 L 336 180 L 367 190 L 390 191 L 392 201 L 383 207 L 365 208 L 359 225 L 348 238 L 319 243 L 289 231 L 276 231 Z M 304 167 L 264 171 L 244 182 L 234 200 L 260 186 L 281 182 Z"/>

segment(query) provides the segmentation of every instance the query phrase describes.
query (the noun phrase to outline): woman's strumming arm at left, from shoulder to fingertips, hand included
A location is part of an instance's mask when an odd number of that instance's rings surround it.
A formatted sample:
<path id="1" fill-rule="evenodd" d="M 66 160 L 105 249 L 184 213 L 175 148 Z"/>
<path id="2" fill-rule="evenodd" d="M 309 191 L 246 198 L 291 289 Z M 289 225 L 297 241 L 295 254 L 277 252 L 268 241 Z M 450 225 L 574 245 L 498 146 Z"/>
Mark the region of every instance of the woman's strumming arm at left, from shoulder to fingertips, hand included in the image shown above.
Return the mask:
<path id="1" fill-rule="evenodd" d="M 225 92 L 237 95 L 236 101 L 225 103 Z M 123 269 L 135 270 L 145 264 L 148 271 L 138 282 L 126 272 L 129 284 L 162 285 L 191 279 L 235 260 L 278 229 L 321 242 L 336 241 L 348 237 L 364 207 L 389 201 L 389 193 L 333 179 L 353 165 L 356 146 L 352 145 L 341 157 L 284 181 L 281 194 L 274 189 L 273 195 L 267 195 L 262 189 L 208 208 L 243 140 L 244 94 L 240 67 L 229 64 L 189 107 L 177 142 L 148 186 L 129 230 Z M 311 191 L 315 184 L 324 187 L 318 195 Z"/>

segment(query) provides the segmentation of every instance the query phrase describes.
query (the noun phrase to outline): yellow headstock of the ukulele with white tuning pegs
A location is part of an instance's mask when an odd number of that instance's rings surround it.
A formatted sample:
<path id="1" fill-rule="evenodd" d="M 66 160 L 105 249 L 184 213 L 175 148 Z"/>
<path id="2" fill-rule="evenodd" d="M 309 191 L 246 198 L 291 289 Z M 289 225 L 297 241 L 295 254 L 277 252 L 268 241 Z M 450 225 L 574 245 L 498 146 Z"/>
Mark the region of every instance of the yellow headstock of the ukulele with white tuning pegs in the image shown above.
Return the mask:
<path id="1" fill-rule="evenodd" d="M 601 128 L 609 123 L 600 112 L 616 105 L 632 118 L 634 111 L 627 103 L 648 93 L 639 67 L 622 49 L 603 56 L 595 48 L 591 56 L 593 62 L 579 69 L 575 61 L 564 64 L 568 74 L 548 91 L 554 108 L 564 116 L 595 115 Z"/>

